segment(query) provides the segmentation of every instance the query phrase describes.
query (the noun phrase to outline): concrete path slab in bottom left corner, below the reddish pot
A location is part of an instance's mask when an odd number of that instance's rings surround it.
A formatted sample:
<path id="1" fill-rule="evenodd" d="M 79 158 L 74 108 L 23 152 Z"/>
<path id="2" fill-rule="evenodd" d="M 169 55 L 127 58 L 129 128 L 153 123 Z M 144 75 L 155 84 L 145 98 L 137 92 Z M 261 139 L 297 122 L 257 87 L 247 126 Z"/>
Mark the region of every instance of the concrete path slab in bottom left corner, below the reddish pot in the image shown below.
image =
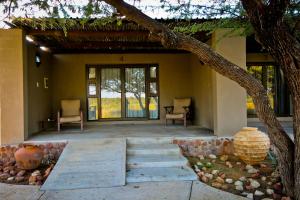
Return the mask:
<path id="1" fill-rule="evenodd" d="M 0 199 L 2 200 L 36 200 L 44 192 L 39 190 L 38 186 L 29 185 L 10 185 L 0 183 Z"/>

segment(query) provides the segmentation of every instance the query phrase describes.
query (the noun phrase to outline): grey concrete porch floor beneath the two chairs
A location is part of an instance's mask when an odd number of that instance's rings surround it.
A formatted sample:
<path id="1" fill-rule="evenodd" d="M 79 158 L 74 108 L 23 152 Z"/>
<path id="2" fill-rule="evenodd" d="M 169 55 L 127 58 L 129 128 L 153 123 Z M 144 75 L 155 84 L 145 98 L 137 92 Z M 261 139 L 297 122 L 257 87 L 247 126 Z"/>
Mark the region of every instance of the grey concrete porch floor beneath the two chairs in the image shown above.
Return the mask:
<path id="1" fill-rule="evenodd" d="M 170 137 L 195 138 L 214 137 L 213 131 L 197 126 L 182 125 L 150 125 L 150 124 L 104 124 L 87 125 L 81 132 L 79 127 L 64 127 L 61 132 L 55 129 L 40 132 L 31 136 L 28 141 L 53 140 L 82 140 L 102 138 L 128 138 L 128 137 Z"/>

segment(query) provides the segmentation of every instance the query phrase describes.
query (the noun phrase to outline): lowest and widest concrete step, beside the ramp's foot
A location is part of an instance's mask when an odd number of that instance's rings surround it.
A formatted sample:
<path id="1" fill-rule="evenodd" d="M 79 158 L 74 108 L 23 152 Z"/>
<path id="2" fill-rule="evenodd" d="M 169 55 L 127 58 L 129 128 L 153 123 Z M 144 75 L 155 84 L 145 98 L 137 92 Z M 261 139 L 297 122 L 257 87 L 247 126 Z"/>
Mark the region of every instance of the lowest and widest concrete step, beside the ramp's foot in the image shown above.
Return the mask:
<path id="1" fill-rule="evenodd" d="M 194 181 L 197 175 L 189 167 L 151 167 L 130 169 L 126 173 L 127 183 L 147 181 Z"/>

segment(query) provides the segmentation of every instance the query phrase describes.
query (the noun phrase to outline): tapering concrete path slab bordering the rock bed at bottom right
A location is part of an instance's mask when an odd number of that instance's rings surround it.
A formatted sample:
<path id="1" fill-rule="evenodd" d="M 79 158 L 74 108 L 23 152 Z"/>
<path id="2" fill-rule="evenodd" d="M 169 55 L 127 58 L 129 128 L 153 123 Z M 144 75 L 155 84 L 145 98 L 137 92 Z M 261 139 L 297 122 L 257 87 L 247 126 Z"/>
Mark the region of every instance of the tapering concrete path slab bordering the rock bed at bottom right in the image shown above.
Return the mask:
<path id="1" fill-rule="evenodd" d="M 247 200 L 222 190 L 208 186 L 200 181 L 194 181 L 190 200 Z"/>

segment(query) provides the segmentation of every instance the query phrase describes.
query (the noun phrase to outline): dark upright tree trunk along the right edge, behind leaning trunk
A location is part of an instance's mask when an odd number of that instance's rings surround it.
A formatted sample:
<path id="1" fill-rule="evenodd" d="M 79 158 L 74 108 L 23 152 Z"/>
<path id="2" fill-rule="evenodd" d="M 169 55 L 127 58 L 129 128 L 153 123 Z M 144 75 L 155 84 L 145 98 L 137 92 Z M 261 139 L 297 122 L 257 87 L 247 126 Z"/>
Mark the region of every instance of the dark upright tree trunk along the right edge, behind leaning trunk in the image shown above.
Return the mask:
<path id="1" fill-rule="evenodd" d="M 287 80 L 293 102 L 294 146 L 288 146 L 292 159 L 290 168 L 281 165 L 280 173 L 289 196 L 300 199 L 300 43 L 291 35 L 283 16 L 289 1 L 242 0 L 248 18 L 255 30 L 256 38 L 280 65 Z M 289 171 L 290 170 L 290 171 Z"/>

